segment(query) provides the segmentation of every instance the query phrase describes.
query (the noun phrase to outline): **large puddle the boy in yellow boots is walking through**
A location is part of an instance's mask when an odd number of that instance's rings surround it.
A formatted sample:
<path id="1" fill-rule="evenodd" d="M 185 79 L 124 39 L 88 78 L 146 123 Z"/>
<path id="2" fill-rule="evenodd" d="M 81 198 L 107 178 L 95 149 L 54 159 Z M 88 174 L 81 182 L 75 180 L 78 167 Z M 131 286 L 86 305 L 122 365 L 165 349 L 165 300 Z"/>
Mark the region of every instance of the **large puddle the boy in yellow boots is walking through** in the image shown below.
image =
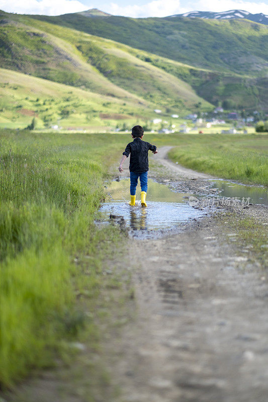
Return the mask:
<path id="1" fill-rule="evenodd" d="M 140 187 L 137 187 L 136 205 L 130 207 L 129 179 L 113 181 L 107 188 L 106 202 L 100 209 L 103 218 L 108 220 L 110 215 L 123 217 L 126 226 L 137 236 L 141 231 L 144 235 L 144 231 L 163 232 L 178 228 L 180 224 L 204 215 L 204 211 L 188 204 L 188 197 L 195 194 L 173 192 L 166 185 L 149 179 L 147 208 L 142 208 L 140 192 Z"/>

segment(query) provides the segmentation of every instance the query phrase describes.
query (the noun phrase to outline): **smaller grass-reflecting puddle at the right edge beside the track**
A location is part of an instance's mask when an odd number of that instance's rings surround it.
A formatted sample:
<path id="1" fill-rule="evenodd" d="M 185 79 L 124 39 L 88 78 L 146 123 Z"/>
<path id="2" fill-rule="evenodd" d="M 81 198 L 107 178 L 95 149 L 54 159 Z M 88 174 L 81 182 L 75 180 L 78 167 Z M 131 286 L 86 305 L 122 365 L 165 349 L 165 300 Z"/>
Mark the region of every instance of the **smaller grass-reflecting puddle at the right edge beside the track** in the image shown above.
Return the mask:
<path id="1" fill-rule="evenodd" d="M 263 204 L 268 206 L 268 191 L 264 187 L 254 187 L 250 185 L 237 184 L 228 180 L 210 179 L 212 188 L 219 190 L 219 195 L 223 197 L 250 198 L 251 204 Z"/>

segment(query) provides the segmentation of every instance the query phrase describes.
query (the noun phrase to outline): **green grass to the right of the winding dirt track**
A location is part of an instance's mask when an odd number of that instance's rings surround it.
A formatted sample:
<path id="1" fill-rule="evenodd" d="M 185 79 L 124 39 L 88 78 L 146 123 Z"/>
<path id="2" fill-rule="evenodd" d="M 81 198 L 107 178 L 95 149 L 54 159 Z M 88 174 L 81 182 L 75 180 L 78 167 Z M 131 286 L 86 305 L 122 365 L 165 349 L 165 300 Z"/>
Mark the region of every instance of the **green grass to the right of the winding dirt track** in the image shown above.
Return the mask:
<path id="1" fill-rule="evenodd" d="M 268 186 L 266 135 L 180 136 L 169 152 L 174 162 L 243 183 Z"/>

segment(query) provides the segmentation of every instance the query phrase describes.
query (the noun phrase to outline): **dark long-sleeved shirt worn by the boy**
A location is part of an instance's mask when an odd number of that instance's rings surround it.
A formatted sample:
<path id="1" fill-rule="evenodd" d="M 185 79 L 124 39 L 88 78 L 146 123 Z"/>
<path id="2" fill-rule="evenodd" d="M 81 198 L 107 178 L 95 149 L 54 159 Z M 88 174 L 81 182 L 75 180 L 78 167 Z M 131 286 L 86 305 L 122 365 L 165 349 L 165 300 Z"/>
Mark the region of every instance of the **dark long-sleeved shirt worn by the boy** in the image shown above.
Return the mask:
<path id="1" fill-rule="evenodd" d="M 123 155 L 130 154 L 129 170 L 140 173 L 149 170 L 148 151 L 155 152 L 156 146 L 149 142 L 142 141 L 141 138 L 134 138 L 127 146 Z"/>

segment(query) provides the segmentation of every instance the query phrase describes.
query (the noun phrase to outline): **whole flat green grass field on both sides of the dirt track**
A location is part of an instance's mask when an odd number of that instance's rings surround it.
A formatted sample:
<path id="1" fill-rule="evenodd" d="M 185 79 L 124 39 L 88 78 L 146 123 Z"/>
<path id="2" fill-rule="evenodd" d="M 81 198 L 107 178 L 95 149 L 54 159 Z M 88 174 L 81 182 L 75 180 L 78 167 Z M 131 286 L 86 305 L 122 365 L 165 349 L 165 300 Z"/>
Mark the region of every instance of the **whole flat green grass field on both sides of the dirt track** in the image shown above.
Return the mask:
<path id="1" fill-rule="evenodd" d="M 196 170 L 267 184 L 266 138 L 146 134 L 144 140 L 175 146 L 172 160 Z M 97 229 L 94 217 L 109 166 L 129 141 L 129 134 L 0 132 L 2 386 L 51 365 L 62 341 L 76 336 L 83 323 L 77 288 L 96 310 L 102 261 L 120 235 L 110 226 Z M 83 276 L 81 256 L 88 258 Z M 93 322 L 93 344 L 96 333 Z"/>

